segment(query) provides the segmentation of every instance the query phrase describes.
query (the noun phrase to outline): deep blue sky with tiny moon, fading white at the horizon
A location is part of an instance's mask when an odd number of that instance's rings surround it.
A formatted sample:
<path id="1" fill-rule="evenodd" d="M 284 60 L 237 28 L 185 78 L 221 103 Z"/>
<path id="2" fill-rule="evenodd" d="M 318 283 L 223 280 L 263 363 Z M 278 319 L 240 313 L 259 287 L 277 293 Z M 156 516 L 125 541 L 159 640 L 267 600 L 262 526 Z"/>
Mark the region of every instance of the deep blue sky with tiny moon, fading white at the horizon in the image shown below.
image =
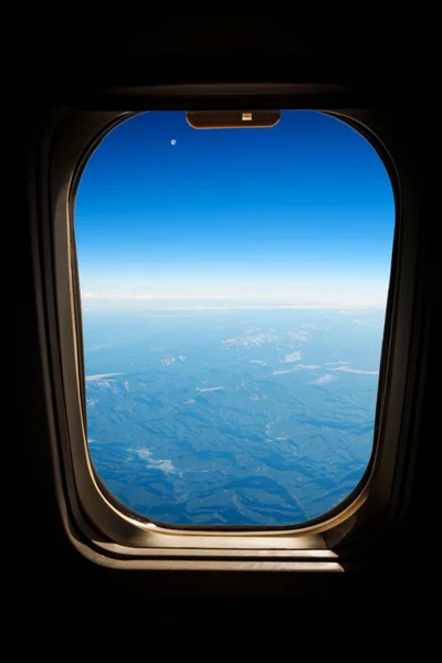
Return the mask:
<path id="1" fill-rule="evenodd" d="M 145 113 L 80 182 L 83 304 L 383 306 L 393 225 L 380 158 L 336 118 L 283 110 L 273 128 L 198 130 L 185 113 Z"/>

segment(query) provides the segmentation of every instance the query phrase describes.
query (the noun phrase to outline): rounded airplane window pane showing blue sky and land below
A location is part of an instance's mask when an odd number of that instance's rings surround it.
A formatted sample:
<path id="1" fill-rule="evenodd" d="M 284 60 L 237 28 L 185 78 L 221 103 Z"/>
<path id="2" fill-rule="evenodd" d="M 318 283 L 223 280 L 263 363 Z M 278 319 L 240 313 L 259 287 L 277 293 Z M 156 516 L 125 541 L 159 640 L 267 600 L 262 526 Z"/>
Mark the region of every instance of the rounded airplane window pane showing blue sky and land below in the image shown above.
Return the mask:
<path id="1" fill-rule="evenodd" d="M 75 202 L 88 451 L 168 525 L 302 525 L 364 484 L 375 446 L 394 200 L 344 122 L 269 128 L 136 115 Z"/>

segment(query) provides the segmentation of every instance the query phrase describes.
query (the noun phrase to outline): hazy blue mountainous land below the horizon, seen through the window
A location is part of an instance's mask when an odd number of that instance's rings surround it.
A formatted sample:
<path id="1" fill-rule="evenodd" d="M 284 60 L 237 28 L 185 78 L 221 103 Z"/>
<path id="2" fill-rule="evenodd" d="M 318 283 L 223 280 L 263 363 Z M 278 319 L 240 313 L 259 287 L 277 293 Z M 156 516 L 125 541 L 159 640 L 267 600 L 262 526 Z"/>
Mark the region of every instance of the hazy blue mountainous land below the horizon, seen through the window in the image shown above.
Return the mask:
<path id="1" fill-rule="evenodd" d="M 170 524 L 291 525 L 357 486 L 383 312 L 85 314 L 90 451 Z"/>

